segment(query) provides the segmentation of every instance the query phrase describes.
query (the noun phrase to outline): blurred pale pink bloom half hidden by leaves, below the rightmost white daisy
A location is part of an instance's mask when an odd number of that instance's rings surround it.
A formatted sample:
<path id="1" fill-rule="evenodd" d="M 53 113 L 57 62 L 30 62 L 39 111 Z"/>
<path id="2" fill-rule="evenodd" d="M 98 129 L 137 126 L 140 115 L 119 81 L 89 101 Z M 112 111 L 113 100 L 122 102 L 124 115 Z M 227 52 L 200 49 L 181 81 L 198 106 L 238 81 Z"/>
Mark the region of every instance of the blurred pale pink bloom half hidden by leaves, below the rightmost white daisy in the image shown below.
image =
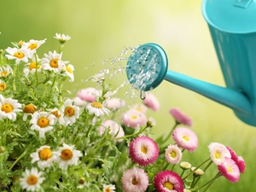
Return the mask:
<path id="1" fill-rule="evenodd" d="M 101 136 L 106 129 L 109 129 L 109 134 L 113 135 L 116 138 L 125 136 L 125 131 L 123 130 L 122 126 L 111 119 L 103 121 L 102 125 L 100 125 L 98 129 Z M 118 140 L 118 142 L 122 141 L 123 139 Z"/>

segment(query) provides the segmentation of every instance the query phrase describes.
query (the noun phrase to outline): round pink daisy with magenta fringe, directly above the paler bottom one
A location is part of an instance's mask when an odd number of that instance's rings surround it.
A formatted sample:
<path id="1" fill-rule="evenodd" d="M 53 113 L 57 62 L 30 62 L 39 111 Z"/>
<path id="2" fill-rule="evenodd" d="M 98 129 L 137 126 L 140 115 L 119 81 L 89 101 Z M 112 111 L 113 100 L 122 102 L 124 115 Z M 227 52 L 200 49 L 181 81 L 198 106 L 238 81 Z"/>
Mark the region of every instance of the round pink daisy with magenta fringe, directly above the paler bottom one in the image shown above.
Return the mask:
<path id="1" fill-rule="evenodd" d="M 134 138 L 129 145 L 131 160 L 140 166 L 153 164 L 158 158 L 159 148 L 152 138 L 141 136 Z"/>

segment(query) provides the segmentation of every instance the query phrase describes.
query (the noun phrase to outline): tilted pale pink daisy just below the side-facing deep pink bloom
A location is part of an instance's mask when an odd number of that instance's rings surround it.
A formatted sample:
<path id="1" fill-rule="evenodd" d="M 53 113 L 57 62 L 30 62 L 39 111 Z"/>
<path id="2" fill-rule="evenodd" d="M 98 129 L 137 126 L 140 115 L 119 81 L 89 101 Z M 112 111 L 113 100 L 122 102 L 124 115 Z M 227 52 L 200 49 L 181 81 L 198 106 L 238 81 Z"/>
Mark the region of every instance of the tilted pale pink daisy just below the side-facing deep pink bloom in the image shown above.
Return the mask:
<path id="1" fill-rule="evenodd" d="M 198 147 L 198 138 L 194 131 L 185 127 L 178 127 L 172 132 L 172 138 L 180 148 L 194 152 Z"/>

